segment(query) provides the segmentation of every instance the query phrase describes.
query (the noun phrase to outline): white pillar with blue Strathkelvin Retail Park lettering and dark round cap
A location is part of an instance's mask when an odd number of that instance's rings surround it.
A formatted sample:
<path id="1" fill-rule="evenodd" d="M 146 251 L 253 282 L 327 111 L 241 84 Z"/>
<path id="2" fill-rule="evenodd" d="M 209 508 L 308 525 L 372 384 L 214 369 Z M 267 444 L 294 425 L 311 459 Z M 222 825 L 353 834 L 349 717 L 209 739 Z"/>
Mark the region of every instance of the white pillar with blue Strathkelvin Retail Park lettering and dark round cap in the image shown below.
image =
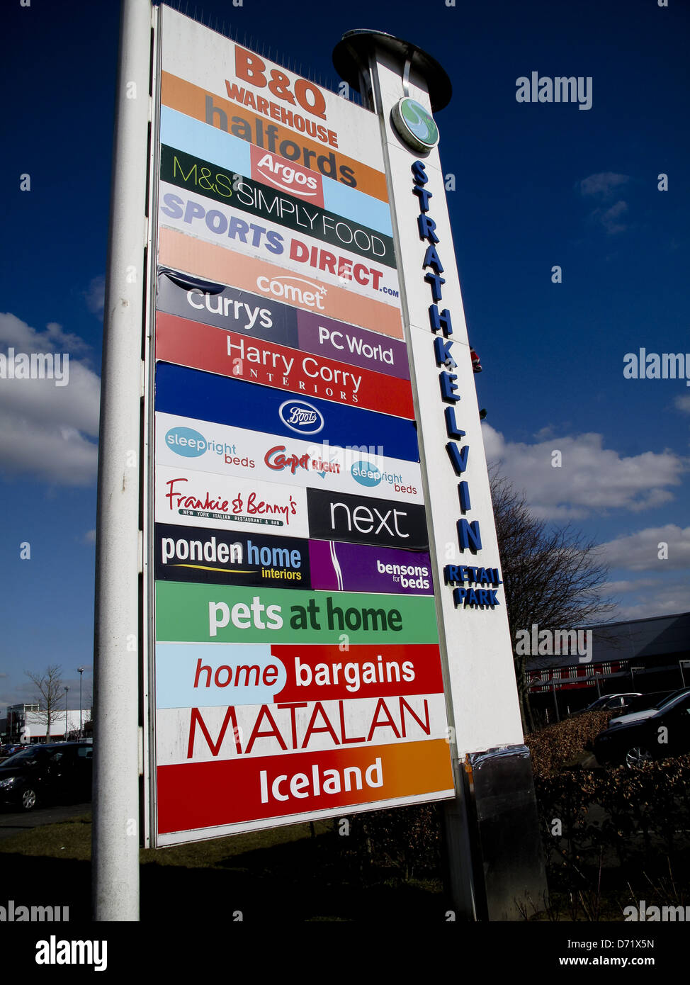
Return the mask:
<path id="1" fill-rule="evenodd" d="M 334 64 L 381 127 L 456 771 L 447 844 L 457 917 L 520 919 L 518 903 L 541 898 L 544 875 L 432 117 L 451 84 L 424 51 L 382 32 L 345 33 Z"/>

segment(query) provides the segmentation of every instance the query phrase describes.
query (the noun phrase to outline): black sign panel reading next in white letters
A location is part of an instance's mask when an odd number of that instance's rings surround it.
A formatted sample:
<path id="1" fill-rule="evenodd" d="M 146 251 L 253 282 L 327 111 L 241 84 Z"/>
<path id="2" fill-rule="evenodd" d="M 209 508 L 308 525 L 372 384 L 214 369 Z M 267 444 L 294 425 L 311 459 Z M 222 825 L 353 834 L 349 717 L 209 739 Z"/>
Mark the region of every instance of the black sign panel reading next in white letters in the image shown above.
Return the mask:
<path id="1" fill-rule="evenodd" d="M 315 540 L 410 551 L 429 544 L 424 507 L 414 503 L 307 490 L 307 507 L 309 536 Z"/>

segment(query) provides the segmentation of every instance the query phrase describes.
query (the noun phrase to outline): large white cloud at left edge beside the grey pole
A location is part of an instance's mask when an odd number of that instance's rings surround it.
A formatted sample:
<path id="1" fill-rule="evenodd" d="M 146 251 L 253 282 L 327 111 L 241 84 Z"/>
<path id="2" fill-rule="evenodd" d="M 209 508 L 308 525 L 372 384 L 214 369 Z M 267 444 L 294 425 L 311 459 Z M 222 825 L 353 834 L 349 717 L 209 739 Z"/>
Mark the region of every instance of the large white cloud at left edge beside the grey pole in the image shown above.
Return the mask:
<path id="1" fill-rule="evenodd" d="M 85 362 L 69 358 L 88 349 L 54 322 L 37 332 L 14 314 L 0 314 L 0 348 L 16 353 L 66 352 L 66 385 L 54 379 L 0 379 L 0 469 L 61 486 L 88 486 L 97 467 L 100 380 Z"/>

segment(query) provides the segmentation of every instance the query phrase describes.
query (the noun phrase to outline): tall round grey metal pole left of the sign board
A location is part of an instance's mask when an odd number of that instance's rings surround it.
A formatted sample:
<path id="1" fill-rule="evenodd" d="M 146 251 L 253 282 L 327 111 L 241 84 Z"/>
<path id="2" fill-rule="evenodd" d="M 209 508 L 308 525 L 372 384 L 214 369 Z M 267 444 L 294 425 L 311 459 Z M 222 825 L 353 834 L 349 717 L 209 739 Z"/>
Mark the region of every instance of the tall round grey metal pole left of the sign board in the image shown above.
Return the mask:
<path id="1" fill-rule="evenodd" d="M 151 33 L 149 0 L 122 0 L 96 520 L 96 921 L 139 919 L 139 459 Z"/>

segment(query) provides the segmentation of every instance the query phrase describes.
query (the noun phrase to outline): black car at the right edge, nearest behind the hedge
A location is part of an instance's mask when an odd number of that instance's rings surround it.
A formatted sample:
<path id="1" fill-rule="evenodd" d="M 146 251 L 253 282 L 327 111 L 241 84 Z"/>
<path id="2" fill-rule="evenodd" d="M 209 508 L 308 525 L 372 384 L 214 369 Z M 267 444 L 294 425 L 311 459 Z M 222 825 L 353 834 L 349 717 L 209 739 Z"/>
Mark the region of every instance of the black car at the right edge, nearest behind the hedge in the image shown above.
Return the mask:
<path id="1" fill-rule="evenodd" d="M 690 691 L 659 704 L 612 719 L 596 736 L 595 755 L 601 765 L 640 765 L 650 759 L 690 750 Z"/>

